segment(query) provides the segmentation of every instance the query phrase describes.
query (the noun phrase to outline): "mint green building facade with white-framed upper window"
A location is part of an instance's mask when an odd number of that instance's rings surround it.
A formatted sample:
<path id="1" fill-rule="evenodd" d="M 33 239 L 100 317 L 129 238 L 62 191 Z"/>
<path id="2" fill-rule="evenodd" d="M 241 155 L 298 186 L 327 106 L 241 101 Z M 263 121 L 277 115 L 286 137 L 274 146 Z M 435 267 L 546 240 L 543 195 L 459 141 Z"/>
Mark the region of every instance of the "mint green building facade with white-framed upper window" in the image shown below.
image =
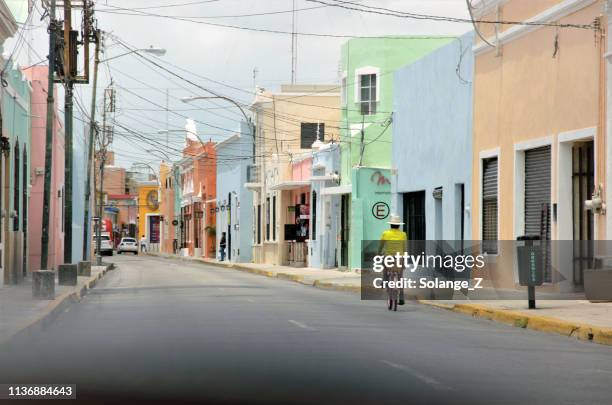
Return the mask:
<path id="1" fill-rule="evenodd" d="M 349 268 L 361 268 L 361 241 L 378 239 L 388 228 L 388 217 L 380 207 L 391 206 L 393 72 L 453 39 L 355 38 L 341 48 L 341 185 L 351 188 Z M 362 114 L 361 75 L 376 77 L 375 112 L 371 114 Z"/>

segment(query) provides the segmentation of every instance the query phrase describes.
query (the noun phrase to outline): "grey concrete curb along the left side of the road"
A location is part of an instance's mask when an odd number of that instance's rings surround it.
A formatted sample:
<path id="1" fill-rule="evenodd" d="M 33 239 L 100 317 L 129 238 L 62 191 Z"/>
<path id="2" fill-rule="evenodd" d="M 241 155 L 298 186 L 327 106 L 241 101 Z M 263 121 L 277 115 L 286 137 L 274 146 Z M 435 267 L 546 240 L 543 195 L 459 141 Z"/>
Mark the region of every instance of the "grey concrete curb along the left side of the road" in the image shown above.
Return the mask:
<path id="1" fill-rule="evenodd" d="M 91 276 L 89 280 L 85 282 L 85 284 L 75 287 L 72 291 L 66 291 L 65 293 L 56 297 L 52 302 L 50 302 L 43 312 L 37 316 L 35 319 L 26 322 L 17 328 L 17 331 L 12 335 L 9 335 L 6 338 L 0 340 L 0 345 L 3 345 L 11 340 L 19 339 L 21 337 L 25 337 L 28 335 L 32 335 L 34 333 L 38 333 L 41 330 L 45 329 L 49 324 L 51 324 L 59 314 L 61 314 L 66 308 L 68 308 L 73 303 L 81 301 L 81 299 L 87 295 L 90 289 L 94 288 L 98 281 L 102 279 L 110 270 L 114 269 L 114 264 L 107 265 L 104 270 L 96 274 L 95 276 Z"/>

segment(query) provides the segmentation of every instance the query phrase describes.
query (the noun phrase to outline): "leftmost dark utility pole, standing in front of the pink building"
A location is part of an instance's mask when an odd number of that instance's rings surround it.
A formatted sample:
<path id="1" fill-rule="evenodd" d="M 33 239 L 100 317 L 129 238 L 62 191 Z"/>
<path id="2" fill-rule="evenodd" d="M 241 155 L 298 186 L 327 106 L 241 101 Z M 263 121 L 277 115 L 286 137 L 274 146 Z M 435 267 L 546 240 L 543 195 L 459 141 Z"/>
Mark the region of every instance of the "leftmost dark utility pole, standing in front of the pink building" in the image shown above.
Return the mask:
<path id="1" fill-rule="evenodd" d="M 55 20 L 55 0 L 49 8 L 49 76 L 47 87 L 47 132 L 45 137 L 45 184 L 43 191 L 42 238 L 40 268 L 48 269 L 49 258 L 49 211 L 51 201 L 51 170 L 53 160 L 53 126 L 55 124 L 55 99 L 53 97 L 54 71 L 56 66 L 57 21 Z"/>

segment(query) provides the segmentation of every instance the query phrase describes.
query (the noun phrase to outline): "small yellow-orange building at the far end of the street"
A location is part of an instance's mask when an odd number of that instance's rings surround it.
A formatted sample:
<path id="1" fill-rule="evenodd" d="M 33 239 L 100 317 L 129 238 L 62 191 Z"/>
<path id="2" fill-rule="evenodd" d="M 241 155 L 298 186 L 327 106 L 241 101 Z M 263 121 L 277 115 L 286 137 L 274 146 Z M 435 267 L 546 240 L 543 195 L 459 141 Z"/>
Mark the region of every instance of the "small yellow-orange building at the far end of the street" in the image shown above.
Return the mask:
<path id="1" fill-rule="evenodd" d="M 149 251 L 159 251 L 161 224 L 159 212 L 159 185 L 156 181 L 141 181 L 138 190 L 138 240 L 147 240 Z"/>

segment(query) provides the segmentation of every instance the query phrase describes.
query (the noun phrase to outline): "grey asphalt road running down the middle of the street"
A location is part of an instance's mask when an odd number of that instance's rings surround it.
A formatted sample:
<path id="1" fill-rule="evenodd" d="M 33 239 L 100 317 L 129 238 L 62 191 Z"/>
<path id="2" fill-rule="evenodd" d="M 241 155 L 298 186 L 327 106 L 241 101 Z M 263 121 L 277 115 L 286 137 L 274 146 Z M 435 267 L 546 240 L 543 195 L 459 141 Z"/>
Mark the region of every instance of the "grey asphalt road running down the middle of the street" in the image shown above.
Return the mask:
<path id="1" fill-rule="evenodd" d="M 86 403 L 612 403 L 609 346 L 201 264 L 113 260 L 40 335 L 0 347 L 0 383 L 75 383 Z"/>

